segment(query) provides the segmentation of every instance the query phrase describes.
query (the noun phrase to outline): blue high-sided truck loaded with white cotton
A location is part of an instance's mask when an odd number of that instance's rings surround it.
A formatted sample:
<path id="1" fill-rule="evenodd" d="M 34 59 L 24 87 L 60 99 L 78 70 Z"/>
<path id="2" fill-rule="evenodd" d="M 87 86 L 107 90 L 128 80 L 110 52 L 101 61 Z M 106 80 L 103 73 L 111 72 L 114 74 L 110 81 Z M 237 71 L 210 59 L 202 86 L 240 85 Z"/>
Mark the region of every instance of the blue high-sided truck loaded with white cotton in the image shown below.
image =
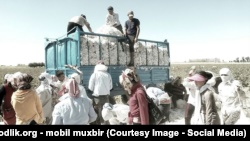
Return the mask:
<path id="1" fill-rule="evenodd" d="M 45 71 L 55 75 L 57 70 L 70 76 L 75 70 L 66 65 L 75 66 L 83 72 L 81 85 L 88 89 L 88 82 L 98 60 L 108 66 L 113 81 L 111 96 L 125 94 L 119 84 L 119 76 L 129 62 L 129 47 L 123 36 L 76 31 L 57 39 L 46 38 Z M 169 81 L 170 53 L 169 43 L 138 39 L 135 44 L 135 68 L 143 85 L 163 87 Z M 91 94 L 88 93 L 89 96 Z"/>

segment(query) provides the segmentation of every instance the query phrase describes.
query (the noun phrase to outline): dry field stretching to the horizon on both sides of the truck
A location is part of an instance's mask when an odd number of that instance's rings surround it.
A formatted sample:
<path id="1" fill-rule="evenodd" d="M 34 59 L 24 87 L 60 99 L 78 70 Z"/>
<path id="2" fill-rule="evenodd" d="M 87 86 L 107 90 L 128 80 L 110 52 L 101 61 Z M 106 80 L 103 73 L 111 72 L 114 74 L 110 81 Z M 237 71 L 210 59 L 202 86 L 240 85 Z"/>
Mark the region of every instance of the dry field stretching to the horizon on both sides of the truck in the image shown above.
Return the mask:
<path id="1" fill-rule="evenodd" d="M 186 77 L 190 68 L 196 66 L 198 70 L 209 70 L 214 73 L 219 73 L 219 70 L 223 67 L 231 69 L 235 79 L 242 82 L 246 88 L 250 87 L 250 64 L 219 64 L 219 63 L 182 63 L 182 64 L 171 64 L 170 75 L 173 77 L 181 76 Z M 45 71 L 44 67 L 30 68 L 26 66 L 0 66 L 0 78 L 3 78 L 6 73 L 15 73 L 17 71 L 28 73 L 34 77 L 33 86 L 39 85 L 38 76 L 40 73 Z M 0 79 L 0 83 L 3 79 Z"/>

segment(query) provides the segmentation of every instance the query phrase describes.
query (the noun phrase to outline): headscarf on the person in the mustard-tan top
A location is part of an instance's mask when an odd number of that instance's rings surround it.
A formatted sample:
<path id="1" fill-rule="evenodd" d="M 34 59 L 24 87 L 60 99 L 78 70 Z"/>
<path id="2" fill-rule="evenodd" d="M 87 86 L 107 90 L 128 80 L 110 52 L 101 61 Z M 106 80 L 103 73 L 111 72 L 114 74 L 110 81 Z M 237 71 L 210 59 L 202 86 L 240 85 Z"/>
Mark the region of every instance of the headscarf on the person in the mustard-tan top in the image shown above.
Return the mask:
<path id="1" fill-rule="evenodd" d="M 26 90 L 31 88 L 31 81 L 33 77 L 26 73 L 15 73 L 14 81 L 15 86 L 20 90 Z"/>

